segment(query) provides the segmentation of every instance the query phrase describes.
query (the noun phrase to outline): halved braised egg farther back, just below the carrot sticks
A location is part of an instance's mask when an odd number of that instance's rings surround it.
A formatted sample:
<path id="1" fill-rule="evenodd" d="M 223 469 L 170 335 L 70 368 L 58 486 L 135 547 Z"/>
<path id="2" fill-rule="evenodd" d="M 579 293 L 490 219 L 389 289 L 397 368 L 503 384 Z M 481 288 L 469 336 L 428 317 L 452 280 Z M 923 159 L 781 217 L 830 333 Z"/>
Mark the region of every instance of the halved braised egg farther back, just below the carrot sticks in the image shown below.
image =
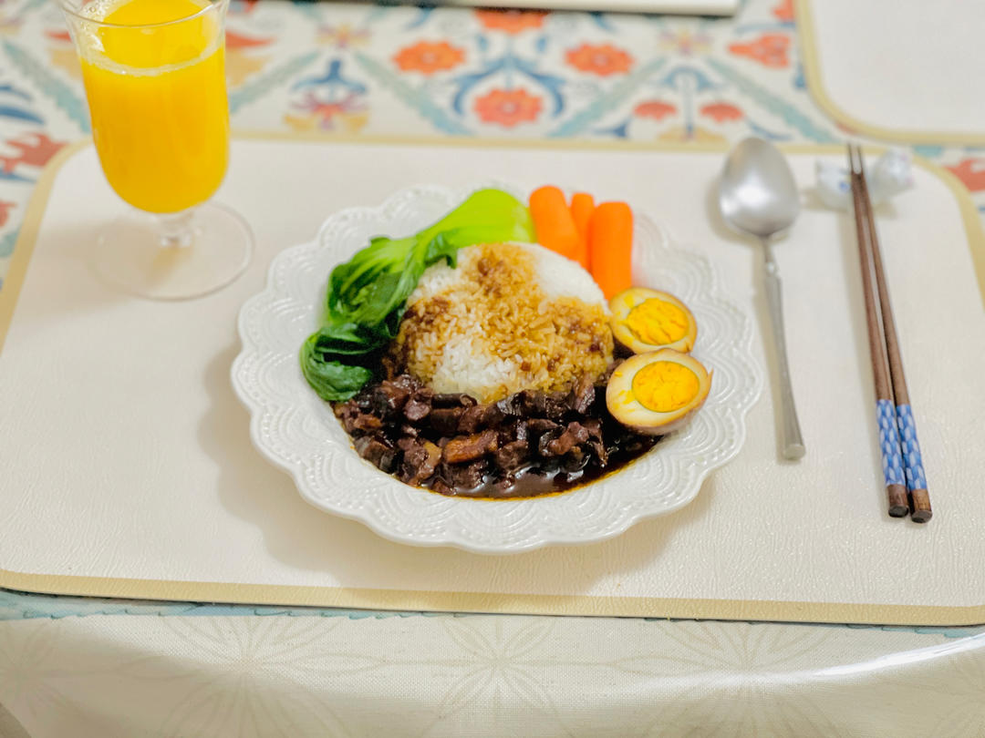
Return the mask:
<path id="1" fill-rule="evenodd" d="M 633 353 L 673 348 L 687 353 L 697 338 L 697 322 L 669 292 L 629 287 L 609 301 L 613 336 Z"/>

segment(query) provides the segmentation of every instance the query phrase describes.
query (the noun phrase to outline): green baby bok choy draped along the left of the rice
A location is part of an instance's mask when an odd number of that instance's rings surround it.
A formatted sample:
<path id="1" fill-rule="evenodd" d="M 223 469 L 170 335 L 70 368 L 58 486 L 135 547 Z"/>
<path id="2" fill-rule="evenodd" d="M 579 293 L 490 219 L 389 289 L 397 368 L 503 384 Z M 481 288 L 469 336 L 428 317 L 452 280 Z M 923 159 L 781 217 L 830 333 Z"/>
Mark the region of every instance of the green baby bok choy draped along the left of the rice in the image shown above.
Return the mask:
<path id="1" fill-rule="evenodd" d="M 501 190 L 477 190 L 458 208 L 407 238 L 370 240 L 332 270 L 321 327 L 304 341 L 301 371 L 324 400 L 349 400 L 372 379 L 396 338 L 407 298 L 427 267 L 454 267 L 460 248 L 534 241 L 530 212 Z"/>

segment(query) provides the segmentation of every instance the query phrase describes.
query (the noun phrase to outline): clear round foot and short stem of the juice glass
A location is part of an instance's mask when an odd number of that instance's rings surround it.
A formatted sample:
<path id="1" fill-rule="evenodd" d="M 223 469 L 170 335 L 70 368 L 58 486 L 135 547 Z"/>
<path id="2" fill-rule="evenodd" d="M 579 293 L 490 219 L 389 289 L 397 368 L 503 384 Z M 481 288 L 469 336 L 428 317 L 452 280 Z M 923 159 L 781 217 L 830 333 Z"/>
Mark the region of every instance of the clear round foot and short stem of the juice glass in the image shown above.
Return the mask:
<path id="1" fill-rule="evenodd" d="M 166 234 L 167 219 L 175 217 L 184 229 Z M 104 281 L 131 294 L 187 300 L 230 284 L 252 254 L 253 234 L 246 221 L 228 208 L 206 203 L 179 216 L 134 213 L 117 218 L 99 232 L 93 266 Z"/>

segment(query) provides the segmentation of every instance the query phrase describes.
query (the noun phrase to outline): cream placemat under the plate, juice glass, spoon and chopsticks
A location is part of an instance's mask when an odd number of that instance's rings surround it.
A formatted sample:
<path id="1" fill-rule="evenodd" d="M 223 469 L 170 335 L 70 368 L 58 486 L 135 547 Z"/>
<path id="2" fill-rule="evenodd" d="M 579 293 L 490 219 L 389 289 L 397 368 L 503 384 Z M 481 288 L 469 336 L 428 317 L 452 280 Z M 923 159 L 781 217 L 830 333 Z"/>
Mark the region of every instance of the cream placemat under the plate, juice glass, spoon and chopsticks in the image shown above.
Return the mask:
<path id="1" fill-rule="evenodd" d="M 95 152 L 74 155 L 55 180 L 0 354 L 0 585 L 414 609 L 985 620 L 985 315 L 959 204 L 925 169 L 880 225 L 936 508 L 926 526 L 886 517 L 853 229 L 810 200 L 777 247 L 808 446 L 800 463 L 777 461 L 767 392 L 740 457 L 688 508 L 605 543 L 491 558 L 401 546 L 319 513 L 250 447 L 230 388 L 235 315 L 271 257 L 310 238 L 325 215 L 422 181 L 569 183 L 662 216 L 758 315 L 757 252 L 709 218 L 721 160 L 695 150 L 239 141 L 219 198 L 249 218 L 254 263 L 218 294 L 161 304 L 90 277 L 93 230 L 119 206 Z M 805 185 L 814 161 L 791 156 Z M 16 278 L 12 270 L 4 294 Z"/>

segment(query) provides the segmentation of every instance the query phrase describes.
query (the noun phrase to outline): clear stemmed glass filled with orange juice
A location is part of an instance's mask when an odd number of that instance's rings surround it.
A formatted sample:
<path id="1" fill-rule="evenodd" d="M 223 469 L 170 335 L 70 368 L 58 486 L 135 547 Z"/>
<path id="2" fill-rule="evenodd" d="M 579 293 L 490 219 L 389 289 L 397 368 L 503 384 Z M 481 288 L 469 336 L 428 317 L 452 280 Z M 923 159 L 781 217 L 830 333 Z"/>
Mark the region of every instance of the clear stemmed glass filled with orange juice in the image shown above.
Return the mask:
<path id="1" fill-rule="evenodd" d="M 249 263 L 245 221 L 206 203 L 229 163 L 229 0 L 61 0 L 110 186 L 141 213 L 99 233 L 95 266 L 118 287 L 174 300 L 213 292 Z"/>

